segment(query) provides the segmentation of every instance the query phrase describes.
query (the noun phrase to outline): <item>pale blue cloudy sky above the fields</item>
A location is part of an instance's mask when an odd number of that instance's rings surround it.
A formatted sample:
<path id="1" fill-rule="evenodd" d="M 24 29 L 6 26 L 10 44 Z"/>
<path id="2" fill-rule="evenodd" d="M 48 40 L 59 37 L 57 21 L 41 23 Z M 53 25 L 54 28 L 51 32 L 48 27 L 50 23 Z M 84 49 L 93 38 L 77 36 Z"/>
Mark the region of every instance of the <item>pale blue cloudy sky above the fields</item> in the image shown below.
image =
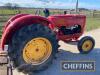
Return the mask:
<path id="1" fill-rule="evenodd" d="M 16 3 L 21 7 L 72 9 L 76 0 L 0 0 L 0 6 L 6 3 Z M 100 0 L 79 0 L 79 7 L 100 9 Z"/>

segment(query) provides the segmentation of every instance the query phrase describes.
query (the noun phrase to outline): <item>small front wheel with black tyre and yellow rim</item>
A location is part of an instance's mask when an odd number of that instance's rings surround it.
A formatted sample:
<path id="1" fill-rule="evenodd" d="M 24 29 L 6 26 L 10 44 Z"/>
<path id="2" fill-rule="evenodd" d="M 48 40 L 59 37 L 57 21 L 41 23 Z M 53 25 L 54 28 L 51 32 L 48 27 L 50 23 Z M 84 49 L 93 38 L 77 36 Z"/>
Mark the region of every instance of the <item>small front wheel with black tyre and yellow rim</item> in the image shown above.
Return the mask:
<path id="1" fill-rule="evenodd" d="M 78 42 L 78 50 L 82 54 L 87 54 L 93 50 L 95 46 L 95 40 L 90 36 L 85 36 Z"/>

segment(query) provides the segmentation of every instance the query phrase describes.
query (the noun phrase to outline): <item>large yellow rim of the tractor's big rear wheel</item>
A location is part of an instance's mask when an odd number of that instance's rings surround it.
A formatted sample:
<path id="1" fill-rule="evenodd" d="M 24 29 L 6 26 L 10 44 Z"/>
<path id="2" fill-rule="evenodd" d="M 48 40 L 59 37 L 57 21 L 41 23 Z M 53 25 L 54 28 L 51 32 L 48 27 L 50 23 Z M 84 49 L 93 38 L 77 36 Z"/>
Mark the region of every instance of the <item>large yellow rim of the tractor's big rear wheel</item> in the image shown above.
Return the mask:
<path id="1" fill-rule="evenodd" d="M 23 50 L 23 59 L 27 63 L 39 65 L 45 62 L 52 53 L 52 46 L 46 38 L 34 38 L 29 41 Z"/>

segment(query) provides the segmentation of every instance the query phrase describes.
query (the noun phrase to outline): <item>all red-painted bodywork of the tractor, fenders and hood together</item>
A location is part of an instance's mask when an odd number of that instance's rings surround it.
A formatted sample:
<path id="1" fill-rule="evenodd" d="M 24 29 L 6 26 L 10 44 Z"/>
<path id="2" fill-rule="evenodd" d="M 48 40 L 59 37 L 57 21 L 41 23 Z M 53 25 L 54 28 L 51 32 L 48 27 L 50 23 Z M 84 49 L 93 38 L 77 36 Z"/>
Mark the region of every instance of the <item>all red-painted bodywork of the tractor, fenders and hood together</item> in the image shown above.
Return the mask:
<path id="1" fill-rule="evenodd" d="M 73 35 L 63 35 L 60 32 L 56 32 L 57 38 L 59 40 L 63 41 L 72 41 L 72 39 L 77 40 L 84 32 L 85 28 L 85 19 L 86 16 L 84 15 L 75 15 L 75 14 L 69 14 L 69 15 L 54 15 L 49 16 L 48 18 L 41 17 L 41 16 L 35 16 L 35 15 L 29 15 L 29 14 L 19 14 L 14 17 L 12 17 L 5 25 L 3 35 L 1 38 L 1 47 L 3 49 L 4 44 L 7 44 L 11 37 L 13 36 L 14 32 L 19 30 L 21 27 L 26 25 L 31 25 L 35 23 L 41 23 L 43 25 L 46 25 L 50 27 L 52 30 L 55 27 L 60 26 L 72 26 L 75 24 L 80 24 L 82 31 L 78 34 Z"/>

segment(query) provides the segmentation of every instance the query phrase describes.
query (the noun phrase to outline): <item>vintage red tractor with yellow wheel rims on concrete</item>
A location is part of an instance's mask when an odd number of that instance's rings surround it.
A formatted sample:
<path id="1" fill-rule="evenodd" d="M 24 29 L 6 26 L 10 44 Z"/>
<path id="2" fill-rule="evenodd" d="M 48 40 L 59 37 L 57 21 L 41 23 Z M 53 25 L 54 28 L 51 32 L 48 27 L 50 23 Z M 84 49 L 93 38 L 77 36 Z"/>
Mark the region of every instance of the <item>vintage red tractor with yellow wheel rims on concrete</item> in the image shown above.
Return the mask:
<path id="1" fill-rule="evenodd" d="M 58 41 L 78 42 L 82 54 L 89 53 L 95 45 L 92 37 L 84 33 L 86 16 L 80 14 L 52 15 L 47 18 L 18 14 L 5 24 L 1 47 L 8 45 L 8 55 L 14 67 L 21 72 L 38 72 L 51 64 L 58 52 Z"/>

